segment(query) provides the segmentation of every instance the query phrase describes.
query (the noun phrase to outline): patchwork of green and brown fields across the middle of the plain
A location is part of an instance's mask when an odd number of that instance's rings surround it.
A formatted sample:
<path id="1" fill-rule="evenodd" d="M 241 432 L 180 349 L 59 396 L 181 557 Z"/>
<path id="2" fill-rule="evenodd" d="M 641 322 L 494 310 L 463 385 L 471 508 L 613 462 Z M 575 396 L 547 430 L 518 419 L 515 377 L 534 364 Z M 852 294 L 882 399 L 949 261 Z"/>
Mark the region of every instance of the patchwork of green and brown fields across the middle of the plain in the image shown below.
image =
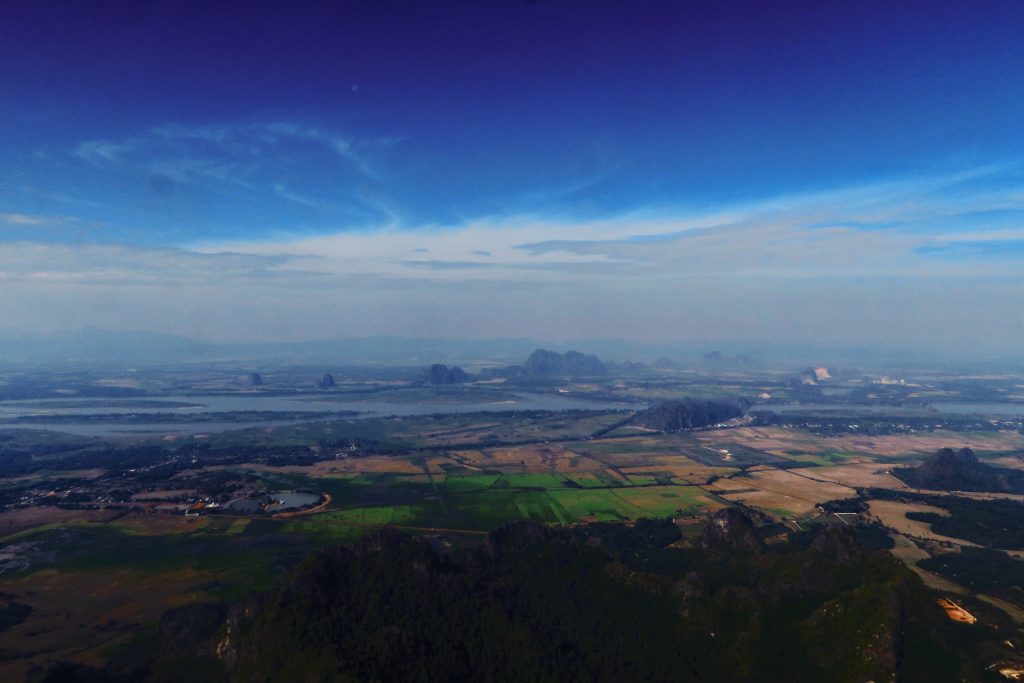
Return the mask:
<path id="1" fill-rule="evenodd" d="M 819 504 L 856 497 L 857 487 L 904 488 L 890 473 L 892 463 L 919 459 L 947 442 L 1009 452 L 1024 445 L 1024 437 L 826 438 L 787 428 L 742 427 L 239 469 L 278 477 L 278 485 L 330 493 L 334 502 L 323 516 L 324 529 L 391 524 L 476 532 L 517 519 L 572 524 L 701 515 L 733 503 L 780 520 L 811 518 L 819 514 Z M 884 455 L 872 455 L 876 447 Z M 314 529 L 318 522 L 294 523 Z"/>

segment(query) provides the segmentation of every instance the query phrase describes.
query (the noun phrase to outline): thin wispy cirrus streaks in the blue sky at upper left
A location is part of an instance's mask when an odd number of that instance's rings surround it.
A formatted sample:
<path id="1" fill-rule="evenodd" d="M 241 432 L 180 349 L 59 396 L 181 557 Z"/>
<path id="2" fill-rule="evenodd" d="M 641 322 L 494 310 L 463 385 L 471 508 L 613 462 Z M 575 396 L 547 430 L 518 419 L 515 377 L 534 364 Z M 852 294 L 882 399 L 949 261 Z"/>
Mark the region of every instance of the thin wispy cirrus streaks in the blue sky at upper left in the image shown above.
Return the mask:
<path id="1" fill-rule="evenodd" d="M 104 191 L 114 187 L 126 198 L 116 220 L 156 221 L 155 228 L 174 234 L 272 233 L 296 220 L 394 221 L 377 159 L 400 142 L 286 121 L 164 125 L 83 141 L 70 157 L 99 174 Z M 169 217 L 178 224 L 164 226 Z M 159 240 L 145 230 L 124 232 Z"/>

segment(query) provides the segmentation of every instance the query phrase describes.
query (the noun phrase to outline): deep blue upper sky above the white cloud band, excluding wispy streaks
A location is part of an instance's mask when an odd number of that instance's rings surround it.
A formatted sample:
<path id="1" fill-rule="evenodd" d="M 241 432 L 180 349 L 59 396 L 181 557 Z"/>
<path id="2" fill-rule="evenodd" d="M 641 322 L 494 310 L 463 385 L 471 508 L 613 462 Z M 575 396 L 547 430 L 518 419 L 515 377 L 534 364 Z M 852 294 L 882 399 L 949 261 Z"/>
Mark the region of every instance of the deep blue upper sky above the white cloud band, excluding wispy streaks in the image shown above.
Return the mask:
<path id="1" fill-rule="evenodd" d="M 160 126 L 286 120 L 391 140 L 366 153 L 373 187 L 312 157 L 285 180 L 327 203 L 370 193 L 410 227 L 941 172 L 1024 153 L 1022 34 L 1019 2 L 6 2 L 0 200 L 117 204 L 78 212 L 115 241 L 381 222 L 161 195 L 70 157 Z"/>

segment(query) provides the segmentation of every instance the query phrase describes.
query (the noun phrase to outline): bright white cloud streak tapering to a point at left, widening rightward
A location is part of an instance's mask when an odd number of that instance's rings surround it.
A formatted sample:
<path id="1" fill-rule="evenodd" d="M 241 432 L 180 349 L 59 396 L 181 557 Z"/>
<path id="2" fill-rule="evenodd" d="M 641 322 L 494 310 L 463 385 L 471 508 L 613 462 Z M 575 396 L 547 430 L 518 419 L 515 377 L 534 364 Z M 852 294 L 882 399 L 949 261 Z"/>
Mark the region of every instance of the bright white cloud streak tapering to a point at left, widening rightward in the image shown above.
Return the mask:
<path id="1" fill-rule="evenodd" d="M 595 221 L 532 216 L 420 229 L 344 230 L 292 241 L 196 245 L 254 254 L 314 256 L 304 268 L 389 278 L 517 282 L 524 269 L 549 282 L 615 276 L 649 282 L 692 276 L 928 276 L 971 274 L 943 245 L 1016 236 L 983 230 L 977 209 L 1024 210 L 1011 183 L 972 187 L 997 168 L 925 176 L 828 193 L 773 198 L 701 214 L 629 214 Z M 955 202 L 950 197 L 955 196 Z M 965 212 L 970 207 L 971 212 Z M 397 258 L 429 249 L 430 258 Z M 967 253 L 962 250 L 963 253 Z M 942 259 L 937 256 L 943 253 Z M 974 253 L 979 253 L 975 248 Z M 986 250 L 995 271 L 1019 266 L 1018 250 Z M 597 267 L 595 267 L 597 266 Z M 1000 270 L 1001 268 L 1001 270 Z"/>

